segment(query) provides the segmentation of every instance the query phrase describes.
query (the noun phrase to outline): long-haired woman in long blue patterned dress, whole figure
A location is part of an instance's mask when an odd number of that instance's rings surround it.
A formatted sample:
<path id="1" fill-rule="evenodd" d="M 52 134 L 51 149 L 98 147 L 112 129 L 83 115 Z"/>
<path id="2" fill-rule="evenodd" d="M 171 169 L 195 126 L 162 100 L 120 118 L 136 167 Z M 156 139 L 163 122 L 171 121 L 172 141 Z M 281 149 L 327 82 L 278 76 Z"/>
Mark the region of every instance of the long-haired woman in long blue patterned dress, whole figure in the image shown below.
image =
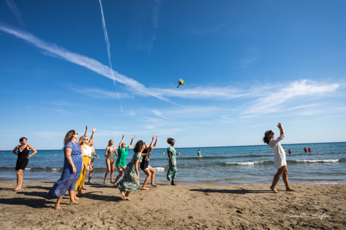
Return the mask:
<path id="1" fill-rule="evenodd" d="M 78 133 L 74 130 L 67 132 L 64 139 L 64 167 L 62 169 L 61 178 L 53 185 L 48 194 L 56 196 L 56 204 L 54 208 L 60 210 L 60 202 L 66 191 L 69 190 L 70 205 L 79 204 L 75 200 L 75 187 L 80 177 L 80 171 L 82 170 L 82 158 L 81 150 L 76 140 L 78 139 Z"/>

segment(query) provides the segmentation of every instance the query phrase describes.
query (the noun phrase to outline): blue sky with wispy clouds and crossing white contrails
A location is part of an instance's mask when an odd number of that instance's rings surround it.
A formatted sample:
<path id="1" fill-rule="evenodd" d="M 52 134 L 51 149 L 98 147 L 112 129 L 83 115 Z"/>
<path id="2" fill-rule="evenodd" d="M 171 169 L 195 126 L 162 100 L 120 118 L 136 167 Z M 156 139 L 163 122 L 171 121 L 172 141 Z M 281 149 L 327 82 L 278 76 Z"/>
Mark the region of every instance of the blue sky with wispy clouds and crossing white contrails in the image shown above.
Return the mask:
<path id="1" fill-rule="evenodd" d="M 346 2 L 0 1 L 0 149 L 345 141 Z M 109 41 L 107 50 L 106 39 Z M 110 63 L 108 53 L 110 54 Z M 178 86 L 178 79 L 186 85 Z"/>

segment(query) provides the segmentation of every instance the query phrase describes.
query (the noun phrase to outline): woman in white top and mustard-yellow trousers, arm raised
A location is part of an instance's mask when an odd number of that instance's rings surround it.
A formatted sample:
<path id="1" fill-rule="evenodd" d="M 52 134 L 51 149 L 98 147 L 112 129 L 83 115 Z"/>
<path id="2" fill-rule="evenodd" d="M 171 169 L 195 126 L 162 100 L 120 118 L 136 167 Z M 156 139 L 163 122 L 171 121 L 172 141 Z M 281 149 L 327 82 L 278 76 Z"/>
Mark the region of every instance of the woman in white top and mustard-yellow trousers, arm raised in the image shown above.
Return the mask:
<path id="1" fill-rule="evenodd" d="M 83 136 L 80 137 L 79 140 L 79 145 L 80 145 L 80 150 L 81 150 L 81 155 L 82 155 L 82 160 L 83 160 L 83 165 L 84 168 L 80 172 L 80 178 L 78 179 L 78 182 L 76 184 L 76 190 L 78 190 L 78 196 L 82 196 L 83 193 L 81 192 L 81 188 L 83 187 L 83 183 L 85 181 L 85 175 L 86 172 L 92 170 L 91 165 L 89 165 L 90 158 L 91 158 L 91 148 L 90 145 L 94 139 L 94 134 L 95 134 L 96 128 L 94 127 L 92 129 L 92 134 L 90 140 L 88 140 L 87 134 L 88 134 L 88 126 L 86 126 L 85 133 Z M 76 200 L 78 200 L 77 196 L 75 197 Z"/>

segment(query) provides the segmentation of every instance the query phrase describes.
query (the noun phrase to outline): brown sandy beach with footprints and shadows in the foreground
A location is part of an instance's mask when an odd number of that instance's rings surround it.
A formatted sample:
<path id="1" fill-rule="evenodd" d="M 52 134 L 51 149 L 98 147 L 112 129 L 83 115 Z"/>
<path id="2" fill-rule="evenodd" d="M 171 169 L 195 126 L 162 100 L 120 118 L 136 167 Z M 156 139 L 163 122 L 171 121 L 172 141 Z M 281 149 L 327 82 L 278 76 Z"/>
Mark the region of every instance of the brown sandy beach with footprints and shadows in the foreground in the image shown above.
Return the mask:
<path id="1" fill-rule="evenodd" d="M 124 201 L 112 184 L 87 184 L 81 205 L 47 195 L 53 182 L 0 182 L 1 229 L 345 229 L 346 184 L 161 184 Z M 150 186 L 149 186 L 150 187 Z"/>

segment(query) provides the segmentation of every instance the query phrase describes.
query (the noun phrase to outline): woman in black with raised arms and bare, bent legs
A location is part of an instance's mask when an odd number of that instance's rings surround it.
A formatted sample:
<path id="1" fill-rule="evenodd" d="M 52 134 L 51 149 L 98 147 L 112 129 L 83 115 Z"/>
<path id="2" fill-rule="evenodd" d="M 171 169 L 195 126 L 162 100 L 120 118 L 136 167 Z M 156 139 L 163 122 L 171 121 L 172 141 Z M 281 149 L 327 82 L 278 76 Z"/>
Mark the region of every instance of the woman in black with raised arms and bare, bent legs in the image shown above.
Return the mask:
<path id="1" fill-rule="evenodd" d="M 156 170 L 152 166 L 149 165 L 149 160 L 150 160 L 150 155 L 151 155 L 150 151 L 156 147 L 156 143 L 158 142 L 159 137 L 156 136 L 156 141 L 155 141 L 154 145 L 153 145 L 154 136 L 152 138 L 153 139 L 152 139 L 150 145 L 148 145 L 147 143 L 144 143 L 145 149 L 142 152 L 143 159 L 142 159 L 142 162 L 140 163 L 140 169 L 145 173 L 145 175 L 147 175 L 147 177 L 144 180 L 144 184 L 142 186 L 142 189 L 145 189 L 145 190 L 149 190 L 149 188 L 147 188 L 146 185 L 148 184 L 150 178 L 151 178 L 151 184 L 150 185 L 155 186 L 155 187 L 158 186 L 154 183 Z"/>

